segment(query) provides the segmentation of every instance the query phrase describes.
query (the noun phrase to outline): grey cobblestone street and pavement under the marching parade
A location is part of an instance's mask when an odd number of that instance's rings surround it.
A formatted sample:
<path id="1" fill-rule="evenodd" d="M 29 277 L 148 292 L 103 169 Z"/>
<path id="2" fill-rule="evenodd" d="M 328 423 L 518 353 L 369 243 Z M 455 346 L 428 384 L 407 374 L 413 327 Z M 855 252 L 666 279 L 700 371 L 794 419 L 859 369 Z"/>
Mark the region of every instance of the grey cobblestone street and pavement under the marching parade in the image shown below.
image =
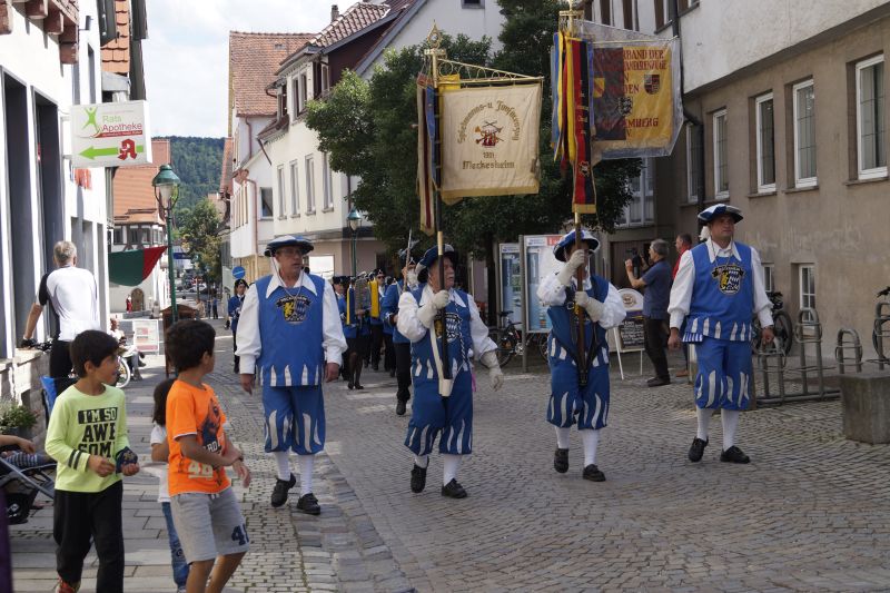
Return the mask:
<path id="1" fill-rule="evenodd" d="M 296 496 L 269 506 L 275 472 L 263 453 L 259 397 L 237 387 L 230 334 L 215 325 L 208 382 L 254 471 L 249 491 L 238 491 L 253 547 L 234 590 L 890 589 L 890 447 L 846 441 L 838 402 L 745 413 L 739 445 L 750 465 L 719 462 L 714 418 L 704 459 L 692 464 L 691 387 L 650 389 L 646 375 L 622 382 L 615 368 L 597 459 L 607 481 L 592 483 L 581 478 L 576 433 L 568 473 L 553 471 L 547 376 L 543 367 L 522 374 L 513 360 L 500 393 L 478 377 L 474 454 L 458 475 L 469 497 L 454 501 L 438 493 L 437 454 L 426 491 L 411 493 L 408 416 L 394 413 L 395 380 L 367 370 L 362 392 L 342 382 L 326 388 L 327 446 L 315 480 L 323 512 L 310 517 L 296 511 Z M 150 392 L 162 376 L 149 370 L 149 380 L 127 388 L 130 438 L 144 458 Z M 156 495 L 151 476 L 127 481 L 127 591 L 172 590 Z M 50 506 L 13 527 L 17 591 L 51 587 L 51 514 Z"/>

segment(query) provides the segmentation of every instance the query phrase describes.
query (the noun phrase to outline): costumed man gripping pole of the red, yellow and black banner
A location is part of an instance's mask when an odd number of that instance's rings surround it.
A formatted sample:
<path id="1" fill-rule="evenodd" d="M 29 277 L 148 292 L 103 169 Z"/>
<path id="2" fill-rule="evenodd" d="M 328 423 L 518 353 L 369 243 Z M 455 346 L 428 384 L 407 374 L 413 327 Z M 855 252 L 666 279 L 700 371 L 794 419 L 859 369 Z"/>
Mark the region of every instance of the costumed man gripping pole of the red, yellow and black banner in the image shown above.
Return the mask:
<path id="1" fill-rule="evenodd" d="M 587 230 L 581 231 L 581 247 L 575 245 L 575 231 L 564 235 L 553 248 L 553 255 L 565 266 L 545 277 L 537 288 L 537 298 L 547 307 L 552 329 L 547 339 L 550 353 L 551 396 L 547 422 L 556 427 L 556 452 L 553 468 L 568 471 L 568 436 L 577 424 L 584 444 L 584 480 L 603 482 L 605 475 L 596 466 L 600 431 L 609 419 L 609 345 L 605 332 L 625 317 L 617 289 L 609 280 L 589 273 L 587 257 L 596 251 L 600 241 Z M 577 270 L 584 269 L 584 286 L 577 288 Z M 585 360 L 578 360 L 577 307 L 584 316 Z M 582 385 L 578 367 L 585 369 Z"/>

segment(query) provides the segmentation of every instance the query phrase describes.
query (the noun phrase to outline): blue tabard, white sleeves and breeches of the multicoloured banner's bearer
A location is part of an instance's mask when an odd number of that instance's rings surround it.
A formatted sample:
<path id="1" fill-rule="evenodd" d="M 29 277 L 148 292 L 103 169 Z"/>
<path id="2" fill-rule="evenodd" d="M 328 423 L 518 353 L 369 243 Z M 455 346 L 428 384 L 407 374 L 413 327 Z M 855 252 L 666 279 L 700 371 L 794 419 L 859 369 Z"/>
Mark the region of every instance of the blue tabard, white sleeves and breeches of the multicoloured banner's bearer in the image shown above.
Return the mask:
<path id="1" fill-rule="evenodd" d="M 553 278 L 546 279 L 550 285 Z M 615 298 L 610 289 L 614 288 L 607 280 L 593 276 L 585 280 L 585 293 L 591 298 L 611 305 L 610 326 L 624 318 L 624 310 L 615 313 Z M 542 288 L 547 285 L 542 284 Z M 543 291 L 543 290 L 542 290 Z M 541 293 L 540 293 L 541 294 Z M 587 384 L 582 387 L 578 382 L 577 355 L 577 317 L 574 314 L 575 288 L 565 287 L 560 300 L 545 302 L 548 305 L 547 316 L 552 328 L 547 337 L 547 353 L 551 368 L 551 396 L 547 404 L 547 422 L 554 426 L 567 428 L 577 424 L 578 429 L 599 429 L 609 421 L 610 383 L 609 383 L 609 344 L 606 327 L 603 323 L 591 320 L 584 315 L 584 352 L 587 367 Z M 621 306 L 621 302 L 617 302 Z M 620 317 L 615 320 L 616 317 Z"/>

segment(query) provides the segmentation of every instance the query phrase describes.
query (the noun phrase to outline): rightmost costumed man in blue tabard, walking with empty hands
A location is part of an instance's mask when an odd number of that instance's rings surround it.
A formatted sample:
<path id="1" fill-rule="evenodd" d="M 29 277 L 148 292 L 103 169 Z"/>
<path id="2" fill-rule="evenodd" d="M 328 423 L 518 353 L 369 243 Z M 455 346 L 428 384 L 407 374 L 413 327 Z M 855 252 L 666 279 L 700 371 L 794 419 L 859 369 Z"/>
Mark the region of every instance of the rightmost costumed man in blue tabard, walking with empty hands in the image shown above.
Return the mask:
<path id="1" fill-rule="evenodd" d="M 723 422 L 720 461 L 751 461 L 735 446 L 739 413 L 751 399 L 751 318 L 759 317 L 767 344 L 773 340 L 773 329 L 760 255 L 733 239 L 741 219 L 741 210 L 726 204 L 699 214 L 710 238 L 683 254 L 668 305 L 669 347 L 680 348 L 681 342 L 694 344 L 699 362 L 694 386 L 699 429 L 689 449 L 691 462 L 701 461 L 704 454 L 708 425 L 716 408 Z"/>

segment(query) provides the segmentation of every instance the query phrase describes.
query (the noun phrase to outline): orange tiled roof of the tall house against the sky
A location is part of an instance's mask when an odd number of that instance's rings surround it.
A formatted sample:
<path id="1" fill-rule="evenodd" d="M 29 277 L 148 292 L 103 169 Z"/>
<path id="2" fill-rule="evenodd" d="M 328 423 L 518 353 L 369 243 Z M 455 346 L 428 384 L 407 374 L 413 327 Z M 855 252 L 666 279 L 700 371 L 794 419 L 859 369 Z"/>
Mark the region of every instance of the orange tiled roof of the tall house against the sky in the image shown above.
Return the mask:
<path id="1" fill-rule="evenodd" d="M 312 33 L 229 32 L 229 113 L 271 116 L 277 112 L 275 97 L 266 87 L 276 79 L 278 65 L 313 38 Z"/>

